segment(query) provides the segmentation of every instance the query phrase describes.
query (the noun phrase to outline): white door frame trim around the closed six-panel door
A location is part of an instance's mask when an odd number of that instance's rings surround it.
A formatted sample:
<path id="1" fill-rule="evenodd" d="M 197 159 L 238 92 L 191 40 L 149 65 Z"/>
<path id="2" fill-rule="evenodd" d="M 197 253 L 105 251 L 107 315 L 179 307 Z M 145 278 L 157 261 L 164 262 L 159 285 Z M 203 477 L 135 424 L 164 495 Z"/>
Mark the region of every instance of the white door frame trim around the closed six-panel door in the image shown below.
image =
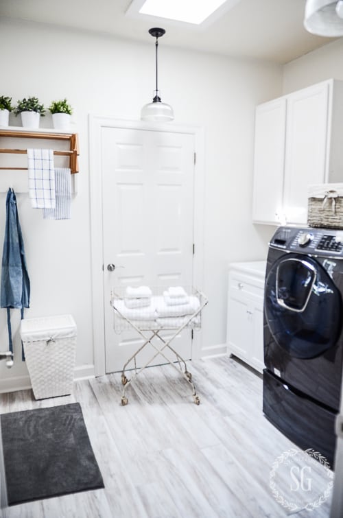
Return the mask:
<path id="1" fill-rule="evenodd" d="M 204 130 L 170 123 L 146 123 L 110 117 L 88 116 L 89 124 L 89 187 L 91 202 L 91 279 L 93 311 L 93 355 L 95 376 L 106 374 L 104 261 L 102 228 L 102 128 L 147 130 L 191 134 L 194 137 L 196 160 L 194 165 L 194 243 L 193 285 L 202 289 L 204 279 Z M 114 332 L 114 331 L 113 331 Z M 193 360 L 200 357 L 202 333 L 194 333 Z"/>

